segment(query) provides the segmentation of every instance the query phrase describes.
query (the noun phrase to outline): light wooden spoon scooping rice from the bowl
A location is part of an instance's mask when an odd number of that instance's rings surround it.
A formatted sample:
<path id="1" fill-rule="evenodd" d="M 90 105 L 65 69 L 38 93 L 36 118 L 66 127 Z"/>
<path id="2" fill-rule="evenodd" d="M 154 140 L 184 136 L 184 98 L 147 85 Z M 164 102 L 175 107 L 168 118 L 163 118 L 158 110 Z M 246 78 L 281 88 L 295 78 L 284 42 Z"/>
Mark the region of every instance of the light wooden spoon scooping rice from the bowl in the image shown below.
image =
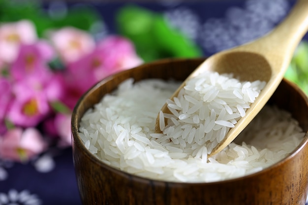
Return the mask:
<path id="1" fill-rule="evenodd" d="M 256 25 L 257 26 L 257 25 Z M 284 21 L 267 35 L 245 45 L 219 52 L 206 59 L 170 97 L 173 99 L 185 86 L 185 82 L 205 70 L 233 73 L 241 81 L 265 81 L 267 84 L 255 102 L 246 110 L 235 127 L 229 130 L 210 153 L 214 155 L 228 146 L 255 117 L 270 99 L 289 66 L 293 53 L 308 30 L 308 0 L 298 0 Z M 285 96 L 288 98 L 288 96 Z M 161 111 L 170 113 L 165 104 Z M 156 118 L 155 131 L 161 133 L 159 115 Z"/>

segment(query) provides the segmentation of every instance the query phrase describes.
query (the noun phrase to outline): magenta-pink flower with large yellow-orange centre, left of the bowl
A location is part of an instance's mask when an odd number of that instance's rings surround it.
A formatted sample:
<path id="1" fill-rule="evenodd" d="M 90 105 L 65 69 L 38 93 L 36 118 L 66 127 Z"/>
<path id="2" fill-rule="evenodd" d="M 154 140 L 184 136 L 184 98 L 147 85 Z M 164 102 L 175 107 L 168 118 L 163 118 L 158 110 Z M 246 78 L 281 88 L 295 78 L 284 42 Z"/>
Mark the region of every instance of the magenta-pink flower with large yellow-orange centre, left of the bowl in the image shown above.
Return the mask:
<path id="1" fill-rule="evenodd" d="M 12 93 L 15 98 L 7 118 L 19 126 L 36 126 L 50 114 L 50 103 L 63 98 L 62 78 L 52 73 L 41 78 L 28 77 L 15 82 Z"/>

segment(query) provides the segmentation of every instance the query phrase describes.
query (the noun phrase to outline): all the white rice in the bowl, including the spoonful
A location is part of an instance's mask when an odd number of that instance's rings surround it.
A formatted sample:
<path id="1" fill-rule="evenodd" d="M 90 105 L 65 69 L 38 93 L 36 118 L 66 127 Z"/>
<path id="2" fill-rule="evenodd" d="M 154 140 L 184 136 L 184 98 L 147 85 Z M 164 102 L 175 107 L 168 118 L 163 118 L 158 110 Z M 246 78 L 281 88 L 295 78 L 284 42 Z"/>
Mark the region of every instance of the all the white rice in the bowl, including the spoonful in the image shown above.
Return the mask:
<path id="1" fill-rule="evenodd" d="M 167 123 L 155 133 L 157 114 L 179 82 L 128 79 L 84 114 L 80 138 L 98 159 L 137 176 L 178 182 L 245 176 L 285 158 L 305 136 L 290 113 L 265 106 L 234 142 L 208 157 L 264 85 L 199 75 L 167 100 L 171 114 L 159 114 Z"/>

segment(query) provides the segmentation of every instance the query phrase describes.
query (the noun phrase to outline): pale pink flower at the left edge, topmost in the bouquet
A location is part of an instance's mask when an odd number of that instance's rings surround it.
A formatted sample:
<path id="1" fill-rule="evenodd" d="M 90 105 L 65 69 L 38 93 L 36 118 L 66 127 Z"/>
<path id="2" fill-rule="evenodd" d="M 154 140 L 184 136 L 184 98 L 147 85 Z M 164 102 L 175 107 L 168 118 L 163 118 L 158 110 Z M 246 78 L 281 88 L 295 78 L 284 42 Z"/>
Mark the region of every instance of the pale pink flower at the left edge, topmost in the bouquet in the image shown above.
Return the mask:
<path id="1" fill-rule="evenodd" d="M 36 39 L 34 25 L 28 20 L 0 25 L 0 59 L 6 63 L 14 61 L 19 46 L 32 44 Z"/>

